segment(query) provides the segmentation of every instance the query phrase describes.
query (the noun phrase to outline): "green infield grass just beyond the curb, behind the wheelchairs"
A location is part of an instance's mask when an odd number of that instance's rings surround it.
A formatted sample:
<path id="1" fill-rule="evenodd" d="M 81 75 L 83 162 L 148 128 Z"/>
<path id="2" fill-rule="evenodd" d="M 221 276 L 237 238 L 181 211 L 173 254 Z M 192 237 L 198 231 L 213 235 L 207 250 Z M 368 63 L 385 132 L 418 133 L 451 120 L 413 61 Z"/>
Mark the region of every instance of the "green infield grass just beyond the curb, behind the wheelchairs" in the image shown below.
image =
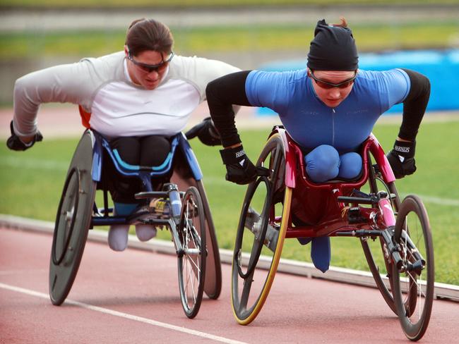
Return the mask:
<path id="1" fill-rule="evenodd" d="M 436 254 L 436 281 L 459 285 L 459 189 L 457 147 L 459 121 L 423 123 L 417 139 L 418 171 L 398 180 L 402 195 L 424 197 L 431 221 Z M 377 125 L 374 133 L 388 150 L 398 133 L 398 125 Z M 252 160 L 266 142 L 268 130 L 242 130 L 244 148 Z M 54 221 L 68 162 L 76 147 L 73 140 L 44 140 L 26 152 L 11 152 L 0 147 L 0 213 Z M 204 183 L 222 248 L 232 250 L 244 186 L 225 181 L 225 169 L 217 147 L 191 142 L 198 156 Z M 451 205 L 439 204 L 436 198 Z M 160 238 L 170 238 L 163 232 Z M 367 269 L 362 249 L 354 238 L 332 239 L 332 264 L 352 269 Z M 286 240 L 282 257 L 310 261 L 309 245 Z"/>

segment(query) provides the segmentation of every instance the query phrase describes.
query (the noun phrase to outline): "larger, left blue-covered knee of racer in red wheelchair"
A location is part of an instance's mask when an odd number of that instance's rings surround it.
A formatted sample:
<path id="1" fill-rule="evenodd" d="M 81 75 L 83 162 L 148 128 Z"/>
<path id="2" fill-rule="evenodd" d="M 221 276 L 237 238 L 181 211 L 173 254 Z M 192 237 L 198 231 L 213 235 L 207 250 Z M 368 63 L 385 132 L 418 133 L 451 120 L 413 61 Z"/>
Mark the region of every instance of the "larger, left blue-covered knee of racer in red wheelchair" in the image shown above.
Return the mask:
<path id="1" fill-rule="evenodd" d="M 314 148 L 304 156 L 306 173 L 316 183 L 336 178 L 340 168 L 340 154 L 329 145 Z"/>

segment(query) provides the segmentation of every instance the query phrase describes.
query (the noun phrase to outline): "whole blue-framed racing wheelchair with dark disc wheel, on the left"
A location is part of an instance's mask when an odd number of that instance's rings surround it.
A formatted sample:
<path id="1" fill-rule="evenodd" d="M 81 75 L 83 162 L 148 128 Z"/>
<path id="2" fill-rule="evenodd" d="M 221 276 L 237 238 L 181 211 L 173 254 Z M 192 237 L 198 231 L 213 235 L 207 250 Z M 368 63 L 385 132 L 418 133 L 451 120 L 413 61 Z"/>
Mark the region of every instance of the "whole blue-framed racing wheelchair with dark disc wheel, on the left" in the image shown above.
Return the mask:
<path id="1" fill-rule="evenodd" d="M 95 130 L 83 133 L 68 168 L 56 215 L 49 264 L 49 296 L 61 305 L 71 290 L 93 226 L 144 223 L 165 226 L 177 252 L 179 293 L 187 317 L 198 314 L 203 292 L 217 299 L 222 287 L 220 254 L 202 173 L 183 133 L 171 138 L 171 151 L 160 166 L 123 164 L 109 143 Z M 109 207 L 107 173 L 112 164 L 121 176 L 141 181 L 135 197 L 145 206 L 128 216 L 115 216 Z M 152 180 L 165 182 L 155 186 Z M 95 204 L 96 189 L 103 207 Z M 160 190 L 158 190 L 160 189 Z M 153 207 L 150 201 L 160 199 Z"/>

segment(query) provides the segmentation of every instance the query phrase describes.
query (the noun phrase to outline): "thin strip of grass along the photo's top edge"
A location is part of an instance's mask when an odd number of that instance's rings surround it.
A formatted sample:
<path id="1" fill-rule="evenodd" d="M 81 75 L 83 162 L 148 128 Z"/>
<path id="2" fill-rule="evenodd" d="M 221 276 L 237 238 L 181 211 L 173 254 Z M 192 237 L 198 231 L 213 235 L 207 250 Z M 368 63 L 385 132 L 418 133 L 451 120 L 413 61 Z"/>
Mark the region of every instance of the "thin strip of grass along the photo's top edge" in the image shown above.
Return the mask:
<path id="1" fill-rule="evenodd" d="M 456 4 L 457 0 L 0 0 L 0 6 L 12 7 L 201 7 L 201 6 L 273 6 L 273 5 L 374 5 L 374 4 Z"/>

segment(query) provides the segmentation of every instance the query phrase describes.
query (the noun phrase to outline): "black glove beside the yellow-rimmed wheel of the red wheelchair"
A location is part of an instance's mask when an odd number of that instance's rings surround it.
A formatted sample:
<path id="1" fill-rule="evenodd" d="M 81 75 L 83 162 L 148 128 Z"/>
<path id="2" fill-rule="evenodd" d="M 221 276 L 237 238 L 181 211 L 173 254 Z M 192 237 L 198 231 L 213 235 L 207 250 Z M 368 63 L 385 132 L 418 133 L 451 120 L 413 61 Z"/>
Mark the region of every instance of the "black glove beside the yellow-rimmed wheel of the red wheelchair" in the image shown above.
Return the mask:
<path id="1" fill-rule="evenodd" d="M 249 184 L 255 180 L 256 167 L 246 156 L 242 146 L 221 149 L 220 154 L 226 166 L 226 180 L 236 184 Z"/>

